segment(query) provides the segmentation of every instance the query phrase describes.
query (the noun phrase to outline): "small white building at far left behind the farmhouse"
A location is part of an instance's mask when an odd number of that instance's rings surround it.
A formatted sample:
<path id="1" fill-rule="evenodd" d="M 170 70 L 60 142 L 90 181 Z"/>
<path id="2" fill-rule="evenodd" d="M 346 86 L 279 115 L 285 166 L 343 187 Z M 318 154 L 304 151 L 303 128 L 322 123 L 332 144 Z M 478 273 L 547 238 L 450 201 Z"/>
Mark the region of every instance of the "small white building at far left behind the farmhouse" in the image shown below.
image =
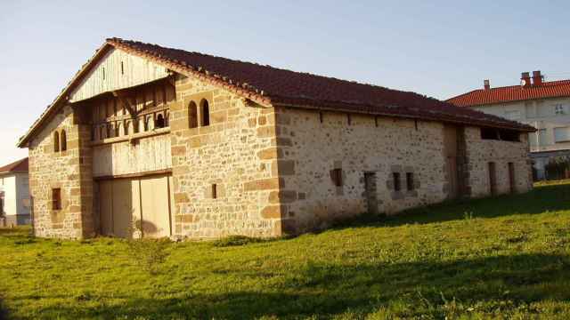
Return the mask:
<path id="1" fill-rule="evenodd" d="M 30 223 L 28 158 L 0 168 L 0 227 Z"/>

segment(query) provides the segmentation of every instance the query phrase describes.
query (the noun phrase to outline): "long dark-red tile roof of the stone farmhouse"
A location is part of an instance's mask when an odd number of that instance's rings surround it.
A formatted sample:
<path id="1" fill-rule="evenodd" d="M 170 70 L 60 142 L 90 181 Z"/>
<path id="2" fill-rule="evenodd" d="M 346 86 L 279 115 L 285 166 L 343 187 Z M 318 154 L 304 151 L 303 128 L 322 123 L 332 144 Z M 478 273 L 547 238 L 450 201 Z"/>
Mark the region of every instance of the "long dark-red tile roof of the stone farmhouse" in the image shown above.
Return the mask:
<path id="1" fill-rule="evenodd" d="M 401 116 L 457 124 L 503 127 L 533 131 L 532 127 L 415 92 L 359 84 L 337 78 L 316 76 L 239 60 L 229 60 L 199 52 L 187 52 L 157 44 L 107 39 L 127 52 L 200 74 L 228 89 L 237 89 L 248 98 L 266 104 L 301 108 L 322 108 L 384 116 Z M 177 71 L 177 70 L 175 70 Z"/>

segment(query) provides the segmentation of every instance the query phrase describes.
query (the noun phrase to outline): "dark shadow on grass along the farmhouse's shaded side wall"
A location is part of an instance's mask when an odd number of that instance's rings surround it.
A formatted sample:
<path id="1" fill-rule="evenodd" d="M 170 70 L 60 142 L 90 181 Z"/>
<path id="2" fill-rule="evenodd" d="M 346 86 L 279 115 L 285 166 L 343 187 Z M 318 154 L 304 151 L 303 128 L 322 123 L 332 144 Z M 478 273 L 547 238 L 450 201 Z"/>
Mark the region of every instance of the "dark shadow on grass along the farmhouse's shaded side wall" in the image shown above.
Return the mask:
<path id="1" fill-rule="evenodd" d="M 547 185 L 525 194 L 449 201 L 400 212 L 394 216 L 362 215 L 335 228 L 425 224 L 469 218 L 495 218 L 516 214 L 570 211 L 570 184 Z"/>

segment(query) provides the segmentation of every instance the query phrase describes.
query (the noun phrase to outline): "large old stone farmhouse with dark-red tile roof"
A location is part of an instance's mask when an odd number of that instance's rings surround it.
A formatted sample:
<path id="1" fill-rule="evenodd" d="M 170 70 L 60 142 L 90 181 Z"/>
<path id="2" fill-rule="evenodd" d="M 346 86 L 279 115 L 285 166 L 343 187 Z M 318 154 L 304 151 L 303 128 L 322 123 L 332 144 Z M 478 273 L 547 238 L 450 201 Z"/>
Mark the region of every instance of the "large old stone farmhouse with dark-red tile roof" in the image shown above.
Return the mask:
<path id="1" fill-rule="evenodd" d="M 37 236 L 281 236 L 532 188 L 525 124 L 108 39 L 20 139 Z"/>

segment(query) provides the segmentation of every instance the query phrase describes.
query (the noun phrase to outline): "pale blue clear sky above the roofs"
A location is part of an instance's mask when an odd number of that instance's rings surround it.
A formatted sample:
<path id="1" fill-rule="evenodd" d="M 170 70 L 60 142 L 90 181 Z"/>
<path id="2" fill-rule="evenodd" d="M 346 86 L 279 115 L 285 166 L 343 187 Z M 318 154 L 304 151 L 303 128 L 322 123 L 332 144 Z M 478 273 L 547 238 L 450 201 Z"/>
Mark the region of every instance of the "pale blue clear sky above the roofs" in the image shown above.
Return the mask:
<path id="1" fill-rule="evenodd" d="M 110 36 L 439 99 L 570 78 L 568 1 L 0 0 L 0 164 Z"/>

